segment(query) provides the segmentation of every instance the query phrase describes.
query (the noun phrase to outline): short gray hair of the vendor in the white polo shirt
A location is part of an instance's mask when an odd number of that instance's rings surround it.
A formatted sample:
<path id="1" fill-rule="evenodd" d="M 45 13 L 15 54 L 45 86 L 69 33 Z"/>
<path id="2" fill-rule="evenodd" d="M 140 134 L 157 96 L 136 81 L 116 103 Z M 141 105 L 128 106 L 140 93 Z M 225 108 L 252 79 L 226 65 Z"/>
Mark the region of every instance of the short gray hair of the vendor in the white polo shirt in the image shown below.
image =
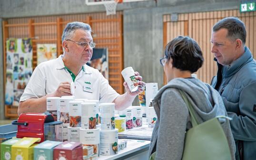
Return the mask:
<path id="1" fill-rule="evenodd" d="M 83 23 L 83 22 L 70 22 L 67 24 L 67 26 L 63 30 L 62 42 L 63 40 L 72 38 L 72 36 L 74 35 L 77 29 L 86 30 L 86 31 L 89 31 L 89 33 L 91 33 L 91 27 L 89 24 Z"/>

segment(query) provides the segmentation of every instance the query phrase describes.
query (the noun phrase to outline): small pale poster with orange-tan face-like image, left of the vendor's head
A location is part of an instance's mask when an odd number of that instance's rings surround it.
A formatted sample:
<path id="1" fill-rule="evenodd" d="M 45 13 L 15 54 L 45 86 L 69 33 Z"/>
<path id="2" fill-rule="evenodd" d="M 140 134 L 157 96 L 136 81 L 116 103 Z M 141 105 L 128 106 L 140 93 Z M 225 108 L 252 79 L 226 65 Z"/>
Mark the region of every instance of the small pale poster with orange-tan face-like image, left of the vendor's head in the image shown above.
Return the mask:
<path id="1" fill-rule="evenodd" d="M 56 44 L 37 44 L 37 65 L 57 58 Z"/>

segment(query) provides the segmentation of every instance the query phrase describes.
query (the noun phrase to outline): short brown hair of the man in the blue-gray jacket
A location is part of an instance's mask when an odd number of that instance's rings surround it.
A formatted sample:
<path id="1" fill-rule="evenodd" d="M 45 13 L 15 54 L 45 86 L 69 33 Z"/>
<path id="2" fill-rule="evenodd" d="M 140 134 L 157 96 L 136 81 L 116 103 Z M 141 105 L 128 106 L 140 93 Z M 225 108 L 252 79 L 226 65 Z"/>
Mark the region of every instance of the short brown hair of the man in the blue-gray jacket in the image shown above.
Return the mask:
<path id="1" fill-rule="evenodd" d="M 246 26 L 245 24 L 236 17 L 227 17 L 219 20 L 212 28 L 213 32 L 219 29 L 227 29 L 227 38 L 231 40 L 241 39 L 243 44 L 246 44 Z"/>

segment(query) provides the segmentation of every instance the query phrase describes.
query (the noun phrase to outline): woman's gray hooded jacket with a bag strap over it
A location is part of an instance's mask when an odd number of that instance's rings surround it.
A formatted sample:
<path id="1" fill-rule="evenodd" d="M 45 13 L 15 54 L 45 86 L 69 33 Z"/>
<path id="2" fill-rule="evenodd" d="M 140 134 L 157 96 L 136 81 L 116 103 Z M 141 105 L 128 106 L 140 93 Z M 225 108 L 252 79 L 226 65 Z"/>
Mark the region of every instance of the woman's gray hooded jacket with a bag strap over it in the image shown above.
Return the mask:
<path id="1" fill-rule="evenodd" d="M 192 127 L 190 116 L 179 90 L 183 90 L 193 105 L 199 123 L 217 115 L 226 115 L 218 92 L 195 78 L 175 78 L 162 87 L 153 100 L 158 120 L 152 133 L 149 155 L 157 151 L 156 160 L 181 160 L 185 132 Z M 232 160 L 235 160 L 235 141 L 229 121 L 222 123 L 229 143 Z"/>

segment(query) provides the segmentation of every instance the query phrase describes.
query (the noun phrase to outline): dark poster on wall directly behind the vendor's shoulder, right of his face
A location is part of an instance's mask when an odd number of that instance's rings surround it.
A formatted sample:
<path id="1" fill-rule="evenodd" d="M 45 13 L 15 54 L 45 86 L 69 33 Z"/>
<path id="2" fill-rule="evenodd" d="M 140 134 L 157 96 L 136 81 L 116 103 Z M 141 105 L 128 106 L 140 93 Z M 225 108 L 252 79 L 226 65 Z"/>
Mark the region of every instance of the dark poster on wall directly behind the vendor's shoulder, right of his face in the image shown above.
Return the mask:
<path id="1" fill-rule="evenodd" d="M 93 48 L 91 60 L 87 63 L 108 79 L 108 48 Z"/>

